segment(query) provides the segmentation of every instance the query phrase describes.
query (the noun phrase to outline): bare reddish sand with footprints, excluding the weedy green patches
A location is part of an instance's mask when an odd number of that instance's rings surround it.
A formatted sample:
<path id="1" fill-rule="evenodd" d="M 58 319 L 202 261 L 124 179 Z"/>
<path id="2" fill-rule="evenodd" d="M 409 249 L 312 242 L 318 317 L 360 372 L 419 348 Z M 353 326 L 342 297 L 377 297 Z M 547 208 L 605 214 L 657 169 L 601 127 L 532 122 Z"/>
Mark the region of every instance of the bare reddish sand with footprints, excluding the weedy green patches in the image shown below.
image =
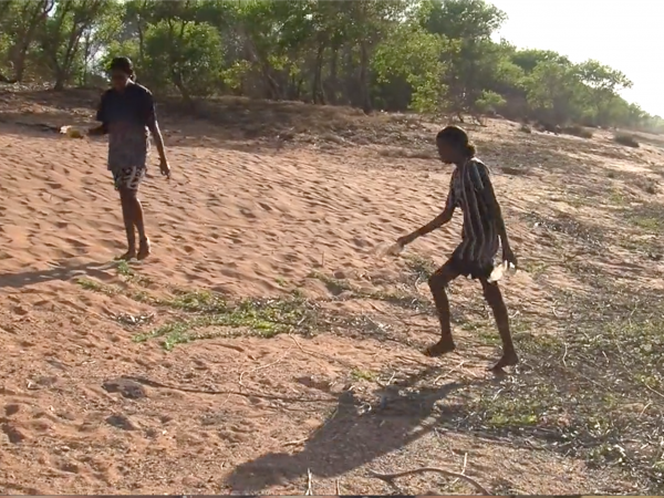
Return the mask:
<path id="1" fill-rule="evenodd" d="M 152 168 L 142 197 L 154 256 L 133 267 L 149 282 L 149 292 L 165 295 L 172 288 L 188 288 L 242 298 L 283 295 L 298 288 L 333 310 L 377 312 L 392 326 L 387 335 L 397 341 L 341 326 L 314 339 L 210 339 L 169 353 L 155 341 L 134 343 L 135 332 L 118 323 L 120 314 L 154 313 L 159 324 L 178 312 L 122 293 L 91 292 L 75 282 L 86 277 L 124 284 L 111 263 L 124 250 L 124 236 L 104 168 L 105 143 L 0 124 L 0 491 L 301 494 L 311 469 L 315 494 L 334 494 L 338 485 L 344 494 L 390 492 L 366 475 L 366 467 L 432 464 L 432 454 L 437 455 L 434 464 L 456 469 L 467 455 L 469 475 L 498 490 L 500 479 L 515 492 L 528 494 L 629 489 L 622 477 L 589 470 L 582 461 L 430 430 L 445 388 L 489 382 L 483 367 L 497 351 L 459 331 L 458 353 L 425 359 L 418 350 L 435 339 L 435 318 L 404 314 L 380 300 L 330 301 L 329 288 L 311 278 L 312 272 L 333 276 L 369 291 L 398 281 L 405 260 L 380 260 L 376 247 L 436 214 L 448 170 L 403 157 L 397 147 L 276 149 L 225 142 L 214 128 L 196 123 L 167 121 L 165 127 L 174 178 L 166 181 Z M 569 168 L 577 168 L 575 195 L 588 197 L 605 188 L 590 176 L 596 168 L 629 174 L 633 167 L 626 153 L 611 153 L 611 146 L 578 148 L 575 138 L 525 138 L 509 123 L 494 123 L 477 138 L 489 163 L 528 169 L 525 175 L 495 169 L 513 245 L 526 266 L 560 257 L 539 245 L 526 216 L 548 212 L 556 196 L 570 193 Z M 542 149 L 550 147 L 549 154 L 535 156 L 529 148 L 535 141 Z M 654 147 L 637 154 L 661 160 Z M 614 222 L 610 211 L 573 210 L 604 222 L 606 230 Z M 443 262 L 458 228 L 455 220 L 416 242 L 413 253 Z M 629 278 L 661 287 L 661 263 L 620 256 L 618 248 L 615 256 L 632 264 Z M 611 258 L 599 263 L 611 270 Z M 583 288 L 556 267 L 548 280 Z M 466 301 L 479 304 L 471 284 L 459 283 L 455 294 L 461 309 Z M 537 314 L 542 329 L 554 331 L 549 291 L 528 271 L 510 280 L 506 298 L 520 313 Z M 486 319 L 486 310 L 479 312 Z M 355 391 L 349 392 L 350 372 L 385 369 L 404 382 L 427 369 L 436 373 L 416 403 L 400 401 L 395 413 L 381 421 L 360 416 L 362 404 L 349 403 L 349 393 L 369 392 L 375 384 L 355 374 Z M 153 383 L 141 384 L 139 398 L 127 398 L 103 387 L 120 375 Z M 423 492 L 444 481 L 413 477 L 404 483 L 406 490 Z"/>

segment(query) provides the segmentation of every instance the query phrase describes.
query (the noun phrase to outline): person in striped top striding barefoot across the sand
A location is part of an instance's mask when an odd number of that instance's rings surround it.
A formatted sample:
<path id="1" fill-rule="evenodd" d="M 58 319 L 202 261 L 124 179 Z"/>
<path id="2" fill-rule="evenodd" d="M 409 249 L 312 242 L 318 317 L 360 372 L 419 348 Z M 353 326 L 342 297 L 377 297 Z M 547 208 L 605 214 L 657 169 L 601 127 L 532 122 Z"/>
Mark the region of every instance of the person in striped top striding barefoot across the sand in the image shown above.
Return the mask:
<path id="1" fill-rule="evenodd" d="M 468 142 L 466 132 L 458 126 L 447 126 L 440 131 L 436 136 L 436 145 L 440 160 L 456 165 L 452 174 L 445 209 L 424 227 L 397 240 L 397 245 L 404 247 L 448 222 L 457 207 L 464 212 L 461 243 L 454 250 L 448 261 L 429 278 L 428 283 L 440 320 L 442 335 L 436 344 L 427 349 L 427 354 L 440 356 L 455 349 L 445 288 L 457 277 L 464 276 L 480 281 L 485 299 L 494 311 L 502 340 L 502 357 L 492 369 L 516 365 L 518 356 L 509 331 L 507 308 L 498 283 L 491 282 L 489 277 L 494 270 L 494 258 L 500 246 L 502 246 L 504 262 L 516 268 L 517 259 L 509 246 L 500 205 L 496 200 L 488 168 L 475 157 L 475 146 Z"/>

